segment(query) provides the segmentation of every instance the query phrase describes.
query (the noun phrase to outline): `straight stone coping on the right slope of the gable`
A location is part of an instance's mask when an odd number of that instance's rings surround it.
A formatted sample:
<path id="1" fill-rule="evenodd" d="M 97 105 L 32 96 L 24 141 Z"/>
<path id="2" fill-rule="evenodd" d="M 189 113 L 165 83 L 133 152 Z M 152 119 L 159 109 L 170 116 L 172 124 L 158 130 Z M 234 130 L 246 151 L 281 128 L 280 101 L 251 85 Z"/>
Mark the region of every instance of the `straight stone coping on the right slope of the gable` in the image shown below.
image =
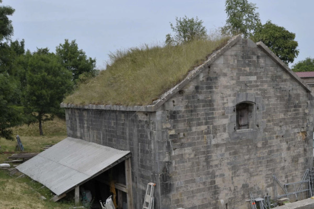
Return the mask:
<path id="1" fill-rule="evenodd" d="M 267 55 L 269 55 L 278 65 L 284 68 L 287 73 L 292 76 L 298 83 L 305 88 L 307 92 L 312 92 L 309 86 L 307 86 L 306 82 L 304 82 L 299 76 L 295 74 L 283 61 L 279 59 L 263 42 L 257 42 L 256 45 L 261 48 Z"/>

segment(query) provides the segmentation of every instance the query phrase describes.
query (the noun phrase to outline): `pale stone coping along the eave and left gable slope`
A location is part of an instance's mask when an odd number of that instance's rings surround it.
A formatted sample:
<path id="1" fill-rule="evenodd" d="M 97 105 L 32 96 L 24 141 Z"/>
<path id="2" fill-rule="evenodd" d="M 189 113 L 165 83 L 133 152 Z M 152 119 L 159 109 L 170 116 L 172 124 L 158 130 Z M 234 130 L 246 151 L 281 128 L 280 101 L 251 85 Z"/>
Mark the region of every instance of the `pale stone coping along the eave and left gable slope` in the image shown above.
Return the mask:
<path id="1" fill-rule="evenodd" d="M 227 44 L 221 47 L 219 50 L 212 53 L 207 61 L 205 61 L 202 65 L 197 66 L 194 70 L 190 71 L 188 75 L 178 83 L 176 86 L 172 87 L 170 90 L 165 92 L 160 96 L 160 99 L 157 99 L 153 102 L 152 105 L 146 106 L 120 106 L 120 105 L 74 105 L 74 104 L 66 104 L 61 103 L 60 107 L 63 108 L 80 108 L 80 109 L 100 109 L 100 110 L 120 110 L 120 111 L 139 111 L 139 112 L 155 112 L 157 109 L 163 105 L 168 99 L 170 99 L 174 94 L 180 91 L 188 82 L 190 82 L 193 78 L 198 76 L 206 67 L 212 64 L 220 55 L 223 55 L 228 49 L 230 49 L 234 44 L 236 44 L 241 39 L 241 34 L 233 36 L 228 40 Z"/>

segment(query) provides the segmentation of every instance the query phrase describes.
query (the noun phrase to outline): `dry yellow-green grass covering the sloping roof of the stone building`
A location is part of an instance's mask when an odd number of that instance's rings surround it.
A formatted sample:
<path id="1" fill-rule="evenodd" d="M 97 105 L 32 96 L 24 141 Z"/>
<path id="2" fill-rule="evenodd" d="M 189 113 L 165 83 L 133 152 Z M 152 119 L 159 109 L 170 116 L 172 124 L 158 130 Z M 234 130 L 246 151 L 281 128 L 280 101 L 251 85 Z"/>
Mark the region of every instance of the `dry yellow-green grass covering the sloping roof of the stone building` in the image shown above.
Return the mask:
<path id="1" fill-rule="evenodd" d="M 64 103 L 149 105 L 182 81 L 229 38 L 196 40 L 179 46 L 132 48 L 111 54 L 111 65 L 82 84 Z"/>

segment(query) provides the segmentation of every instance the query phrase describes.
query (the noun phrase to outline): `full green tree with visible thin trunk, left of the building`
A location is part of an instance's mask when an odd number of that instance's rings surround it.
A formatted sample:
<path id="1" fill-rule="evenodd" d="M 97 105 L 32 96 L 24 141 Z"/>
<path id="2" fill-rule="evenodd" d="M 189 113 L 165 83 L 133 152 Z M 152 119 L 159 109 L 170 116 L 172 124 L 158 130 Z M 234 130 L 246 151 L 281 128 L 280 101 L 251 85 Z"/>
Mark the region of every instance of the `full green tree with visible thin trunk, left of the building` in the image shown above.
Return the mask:
<path id="1" fill-rule="evenodd" d="M 30 123 L 38 121 L 43 135 L 42 122 L 52 120 L 59 111 L 65 94 L 72 90 L 72 75 L 47 48 L 37 49 L 27 61 L 24 106 L 33 118 Z"/>

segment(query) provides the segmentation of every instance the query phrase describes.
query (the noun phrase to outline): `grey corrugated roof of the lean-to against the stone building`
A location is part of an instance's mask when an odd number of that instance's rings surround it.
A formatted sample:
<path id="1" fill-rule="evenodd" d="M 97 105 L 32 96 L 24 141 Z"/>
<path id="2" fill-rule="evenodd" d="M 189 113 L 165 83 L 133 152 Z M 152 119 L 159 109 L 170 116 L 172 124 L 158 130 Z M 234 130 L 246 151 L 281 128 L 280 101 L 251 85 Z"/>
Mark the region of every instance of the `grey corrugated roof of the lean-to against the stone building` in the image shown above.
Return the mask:
<path id="1" fill-rule="evenodd" d="M 109 169 L 129 153 L 68 137 L 16 168 L 61 195 Z"/>

